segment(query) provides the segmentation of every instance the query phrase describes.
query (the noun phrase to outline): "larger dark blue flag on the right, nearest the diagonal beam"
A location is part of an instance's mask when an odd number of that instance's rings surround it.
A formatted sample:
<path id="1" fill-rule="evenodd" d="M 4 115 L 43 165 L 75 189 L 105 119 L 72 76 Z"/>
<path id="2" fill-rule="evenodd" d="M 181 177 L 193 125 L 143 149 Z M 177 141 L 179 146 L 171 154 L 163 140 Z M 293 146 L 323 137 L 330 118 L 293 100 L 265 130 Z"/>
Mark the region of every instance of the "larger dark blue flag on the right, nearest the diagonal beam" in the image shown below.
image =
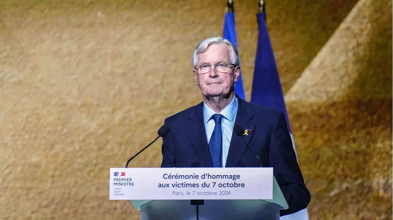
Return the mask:
<path id="1" fill-rule="evenodd" d="M 258 43 L 252 81 L 251 102 L 267 106 L 284 113 L 286 124 L 292 138 L 293 148 L 296 152 L 288 114 L 286 113 L 284 94 L 281 88 L 281 82 L 278 75 L 277 65 L 275 63 L 272 43 L 270 43 L 264 13 L 257 14 L 257 22 Z M 308 219 L 309 214 L 307 208 L 298 211 L 297 213 L 280 217 L 280 220 Z"/>

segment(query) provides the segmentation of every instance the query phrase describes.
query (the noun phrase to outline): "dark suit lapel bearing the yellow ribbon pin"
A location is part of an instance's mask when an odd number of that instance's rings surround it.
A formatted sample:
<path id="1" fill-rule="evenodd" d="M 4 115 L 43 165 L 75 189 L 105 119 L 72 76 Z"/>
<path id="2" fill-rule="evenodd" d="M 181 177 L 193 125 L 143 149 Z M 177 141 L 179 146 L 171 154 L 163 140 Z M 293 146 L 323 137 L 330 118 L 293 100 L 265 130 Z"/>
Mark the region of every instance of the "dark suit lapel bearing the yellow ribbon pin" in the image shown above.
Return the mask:
<path id="1" fill-rule="evenodd" d="M 255 124 L 250 122 L 250 119 L 254 117 L 254 114 L 250 107 L 247 105 L 248 103 L 243 99 L 237 97 L 239 100 L 239 107 L 237 109 L 235 124 L 240 124 L 247 132 L 244 135 L 244 139 L 248 143 L 250 143 L 252 134 L 254 133 Z M 247 149 L 247 144 L 244 142 L 242 137 L 239 137 L 232 132 L 231 143 L 229 147 L 228 157 L 226 160 L 226 167 L 235 167 L 241 161 L 244 151 Z"/>

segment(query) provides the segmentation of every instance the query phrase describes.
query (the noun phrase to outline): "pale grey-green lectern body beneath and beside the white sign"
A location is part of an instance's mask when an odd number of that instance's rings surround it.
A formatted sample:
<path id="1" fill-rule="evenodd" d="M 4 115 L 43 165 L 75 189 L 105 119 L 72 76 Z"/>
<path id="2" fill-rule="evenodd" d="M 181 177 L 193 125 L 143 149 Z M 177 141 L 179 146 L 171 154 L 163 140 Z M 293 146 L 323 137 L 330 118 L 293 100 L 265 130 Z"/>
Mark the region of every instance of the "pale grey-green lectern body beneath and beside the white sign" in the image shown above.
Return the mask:
<path id="1" fill-rule="evenodd" d="M 131 200 L 141 211 L 141 220 L 195 220 L 196 207 L 190 200 Z M 200 220 L 279 220 L 288 204 L 274 178 L 271 200 L 204 200 L 198 207 Z"/>

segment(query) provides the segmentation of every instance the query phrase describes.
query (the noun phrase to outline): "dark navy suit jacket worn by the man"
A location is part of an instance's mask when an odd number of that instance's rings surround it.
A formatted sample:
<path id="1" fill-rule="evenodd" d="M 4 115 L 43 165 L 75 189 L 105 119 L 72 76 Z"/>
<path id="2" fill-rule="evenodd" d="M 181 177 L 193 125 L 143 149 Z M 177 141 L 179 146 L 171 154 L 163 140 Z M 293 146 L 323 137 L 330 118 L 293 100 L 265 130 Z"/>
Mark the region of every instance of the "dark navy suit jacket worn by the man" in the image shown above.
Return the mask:
<path id="1" fill-rule="evenodd" d="M 288 202 L 289 209 L 280 215 L 295 213 L 307 207 L 307 190 L 290 134 L 282 112 L 239 97 L 235 124 L 248 129 L 246 140 L 261 160 L 263 167 L 273 167 L 274 176 Z M 171 131 L 163 138 L 161 167 L 213 167 L 203 119 L 203 103 L 187 108 L 165 119 Z M 250 131 L 251 130 L 251 131 Z M 232 133 L 226 167 L 259 167 L 259 162 L 246 143 Z"/>

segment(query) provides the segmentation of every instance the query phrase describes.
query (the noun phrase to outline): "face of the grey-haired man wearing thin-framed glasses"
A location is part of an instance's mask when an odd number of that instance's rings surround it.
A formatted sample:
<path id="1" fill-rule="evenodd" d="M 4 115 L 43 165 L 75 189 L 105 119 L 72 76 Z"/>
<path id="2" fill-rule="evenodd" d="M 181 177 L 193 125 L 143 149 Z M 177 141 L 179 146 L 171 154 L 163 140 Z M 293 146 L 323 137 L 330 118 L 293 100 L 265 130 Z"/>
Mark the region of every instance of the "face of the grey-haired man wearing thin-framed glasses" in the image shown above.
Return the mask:
<path id="1" fill-rule="evenodd" d="M 226 44 L 212 44 L 206 52 L 198 54 L 198 67 L 204 64 L 231 63 L 230 49 Z M 211 65 L 210 71 L 200 74 L 199 70 L 194 70 L 196 85 L 199 86 L 202 94 L 208 97 L 226 96 L 231 92 L 231 88 L 239 79 L 240 67 L 228 65 L 230 69 L 223 73 L 217 71 L 214 65 Z"/>

